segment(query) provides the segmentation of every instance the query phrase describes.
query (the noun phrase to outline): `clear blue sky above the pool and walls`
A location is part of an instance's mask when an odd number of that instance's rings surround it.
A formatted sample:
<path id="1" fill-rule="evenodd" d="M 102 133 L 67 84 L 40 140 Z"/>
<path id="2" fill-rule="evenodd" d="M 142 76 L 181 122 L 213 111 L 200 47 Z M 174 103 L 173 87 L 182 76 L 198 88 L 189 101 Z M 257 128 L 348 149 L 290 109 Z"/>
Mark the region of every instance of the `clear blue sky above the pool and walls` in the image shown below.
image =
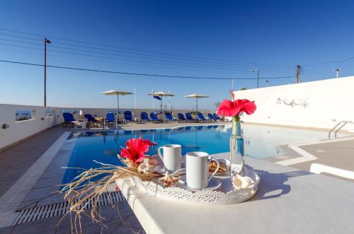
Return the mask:
<path id="1" fill-rule="evenodd" d="M 251 69 L 260 69 L 261 77 L 295 76 L 301 64 L 302 81 L 333 78 L 337 67 L 341 76 L 350 76 L 354 60 L 305 65 L 354 56 L 353 8 L 353 1 L 1 1 L 0 28 L 37 35 L 0 30 L 0 59 L 42 64 L 43 37 L 38 35 L 48 35 L 47 64 L 57 66 L 256 78 Z M 0 103 L 42 105 L 42 80 L 42 67 L 0 62 Z M 295 77 L 269 81 L 294 83 Z M 229 97 L 231 84 L 48 68 L 47 103 L 115 107 L 114 97 L 100 93 L 136 88 L 137 107 L 152 107 L 147 93 L 154 89 L 175 93 L 171 105 L 176 109 L 195 106 L 183 98 L 190 93 L 210 95 L 200 107 L 212 108 Z M 265 86 L 265 80 L 260 84 Z M 255 88 L 256 81 L 235 81 L 235 87 Z M 134 106 L 132 96 L 121 100 L 122 107 Z"/>

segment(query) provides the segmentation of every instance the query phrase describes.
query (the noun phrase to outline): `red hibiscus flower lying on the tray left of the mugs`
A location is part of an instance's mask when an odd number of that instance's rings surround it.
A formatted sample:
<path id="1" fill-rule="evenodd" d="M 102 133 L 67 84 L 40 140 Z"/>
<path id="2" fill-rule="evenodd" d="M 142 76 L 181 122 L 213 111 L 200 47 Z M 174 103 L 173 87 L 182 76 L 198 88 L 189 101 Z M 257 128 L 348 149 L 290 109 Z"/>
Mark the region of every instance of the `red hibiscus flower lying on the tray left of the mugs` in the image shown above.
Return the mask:
<path id="1" fill-rule="evenodd" d="M 125 143 L 125 148 L 120 151 L 120 156 L 131 160 L 132 163 L 142 163 L 145 157 L 145 153 L 149 151 L 150 146 L 156 146 L 157 144 L 150 140 L 129 139 Z"/>

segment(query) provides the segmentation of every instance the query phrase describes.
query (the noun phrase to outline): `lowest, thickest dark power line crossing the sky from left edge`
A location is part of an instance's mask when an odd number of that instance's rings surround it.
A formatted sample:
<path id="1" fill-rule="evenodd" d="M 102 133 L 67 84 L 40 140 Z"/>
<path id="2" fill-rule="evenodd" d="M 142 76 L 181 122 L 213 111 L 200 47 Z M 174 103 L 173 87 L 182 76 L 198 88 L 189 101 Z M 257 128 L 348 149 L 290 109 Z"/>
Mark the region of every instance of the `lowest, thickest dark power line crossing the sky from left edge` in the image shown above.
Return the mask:
<path id="1" fill-rule="evenodd" d="M 33 64 L 28 62 L 17 62 L 17 61 L 3 60 L 3 59 L 0 59 L 0 62 L 30 65 L 30 66 L 44 66 L 43 64 Z M 105 71 L 105 70 L 82 69 L 82 68 L 75 68 L 69 66 L 54 66 L 54 65 L 47 65 L 47 67 L 52 67 L 57 69 L 77 70 L 77 71 L 93 71 L 93 72 L 101 72 L 101 73 L 109 73 L 109 74 L 124 74 L 124 75 L 132 75 L 132 76 L 155 76 L 155 77 L 166 77 L 166 78 L 193 78 L 193 79 L 214 79 L 214 80 L 255 80 L 256 79 L 256 78 L 221 78 L 221 77 L 200 77 L 200 76 L 171 76 L 171 75 L 159 75 L 159 74 L 138 74 L 138 73 L 130 73 L 124 71 Z M 278 77 L 264 77 L 264 78 L 262 77 L 260 79 L 292 78 L 292 77 L 294 76 L 278 76 Z"/>

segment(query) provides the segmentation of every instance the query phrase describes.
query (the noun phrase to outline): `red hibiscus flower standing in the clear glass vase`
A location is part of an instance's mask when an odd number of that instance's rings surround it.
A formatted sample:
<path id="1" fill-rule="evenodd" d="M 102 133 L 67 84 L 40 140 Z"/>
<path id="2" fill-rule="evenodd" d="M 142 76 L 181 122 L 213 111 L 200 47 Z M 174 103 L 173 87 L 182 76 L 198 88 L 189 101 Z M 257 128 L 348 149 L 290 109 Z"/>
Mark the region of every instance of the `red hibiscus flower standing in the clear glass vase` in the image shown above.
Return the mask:
<path id="1" fill-rule="evenodd" d="M 217 108 L 217 114 L 226 117 L 238 116 L 240 112 L 252 115 L 256 111 L 254 101 L 248 99 L 237 99 L 234 101 L 225 99 Z"/>

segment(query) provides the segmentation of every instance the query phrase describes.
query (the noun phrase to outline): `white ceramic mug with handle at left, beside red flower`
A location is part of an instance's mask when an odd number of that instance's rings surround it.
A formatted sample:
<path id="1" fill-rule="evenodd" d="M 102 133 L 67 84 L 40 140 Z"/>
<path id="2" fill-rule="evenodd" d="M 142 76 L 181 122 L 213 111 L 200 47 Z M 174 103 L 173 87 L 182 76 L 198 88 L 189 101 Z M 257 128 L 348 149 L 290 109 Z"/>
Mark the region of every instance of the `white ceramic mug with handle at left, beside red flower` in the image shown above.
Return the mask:
<path id="1" fill-rule="evenodd" d="M 161 154 L 161 149 L 164 150 L 164 156 Z M 182 146 L 177 144 L 169 144 L 159 147 L 157 150 L 161 160 L 164 162 L 165 170 L 170 173 L 181 169 L 182 165 Z"/>

